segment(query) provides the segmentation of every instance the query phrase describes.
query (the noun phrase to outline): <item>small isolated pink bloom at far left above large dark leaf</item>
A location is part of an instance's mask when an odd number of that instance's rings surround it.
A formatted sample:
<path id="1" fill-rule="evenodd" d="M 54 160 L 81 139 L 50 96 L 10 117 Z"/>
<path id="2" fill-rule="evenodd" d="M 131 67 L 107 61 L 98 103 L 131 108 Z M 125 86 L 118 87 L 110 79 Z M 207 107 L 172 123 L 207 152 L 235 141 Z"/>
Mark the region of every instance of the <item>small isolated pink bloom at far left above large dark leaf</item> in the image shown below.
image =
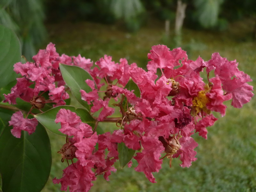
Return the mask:
<path id="1" fill-rule="evenodd" d="M 27 131 L 29 135 L 35 132 L 38 121 L 36 118 L 24 119 L 22 112 L 17 111 L 16 113 L 12 114 L 9 124 L 9 126 L 13 126 L 13 129 L 11 130 L 12 135 L 20 138 L 22 130 Z"/>

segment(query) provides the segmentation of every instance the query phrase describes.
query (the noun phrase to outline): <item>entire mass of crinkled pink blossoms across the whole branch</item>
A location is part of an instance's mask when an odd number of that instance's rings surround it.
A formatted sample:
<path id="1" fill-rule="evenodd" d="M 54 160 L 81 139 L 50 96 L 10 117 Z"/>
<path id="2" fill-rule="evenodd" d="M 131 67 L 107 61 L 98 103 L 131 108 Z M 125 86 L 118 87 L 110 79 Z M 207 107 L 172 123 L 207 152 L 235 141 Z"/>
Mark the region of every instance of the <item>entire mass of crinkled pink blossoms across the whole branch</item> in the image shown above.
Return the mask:
<path id="1" fill-rule="evenodd" d="M 111 171 L 116 171 L 113 164 L 118 160 L 118 143 L 137 151 L 133 156 L 138 162 L 135 170 L 144 172 L 152 183 L 156 182 L 152 173 L 159 172 L 165 157 L 170 159 L 170 166 L 172 158 L 179 157 L 180 166 L 189 167 L 196 161 L 194 149 L 198 146 L 191 136 L 198 132 L 207 139 L 206 127 L 217 120 L 212 111 L 224 116 L 227 108 L 224 101 L 232 100 L 232 106 L 241 108 L 253 96 L 253 87 L 247 84 L 252 81 L 250 76 L 238 70 L 236 61 L 228 61 L 219 53 L 213 53 L 209 61 L 200 57 L 193 61 L 181 48 L 170 51 L 165 45 L 156 45 L 148 53 L 148 59 L 147 71 L 135 63 L 129 65 L 126 59 L 115 63 L 107 55 L 93 64 L 81 55 L 59 56 L 50 43 L 33 57 L 35 62 L 14 65 L 15 72 L 23 77 L 17 79 L 4 101 L 15 104 L 19 97 L 38 109 L 46 102 L 64 105 L 64 100 L 69 98 L 59 63 L 79 66 L 93 78 L 85 80 L 92 91 L 80 92 L 90 105 L 92 116 L 101 109 L 98 116 L 93 116 L 95 127 L 83 123 L 76 113 L 66 109 L 60 109 L 56 116 L 55 122 L 61 124 L 60 132 L 67 135 L 67 143 L 58 153 L 63 161 L 72 161 L 63 170 L 63 177 L 53 180 L 61 183 L 61 190 L 69 186 L 71 192 L 89 191 L 99 174 L 108 180 Z M 200 73 L 204 68 L 208 78 L 203 81 Z M 125 88 L 130 79 L 137 84 L 140 96 Z M 42 98 L 44 92 L 48 93 L 48 100 Z M 110 107 L 110 100 L 115 102 L 115 108 Z M 116 107 L 120 117 L 108 117 Z M 112 133 L 98 134 L 98 122 L 115 122 L 117 127 Z M 20 137 L 21 130 L 33 133 L 37 121 L 23 118 L 19 111 L 13 114 L 10 125 L 13 125 L 12 134 Z"/>

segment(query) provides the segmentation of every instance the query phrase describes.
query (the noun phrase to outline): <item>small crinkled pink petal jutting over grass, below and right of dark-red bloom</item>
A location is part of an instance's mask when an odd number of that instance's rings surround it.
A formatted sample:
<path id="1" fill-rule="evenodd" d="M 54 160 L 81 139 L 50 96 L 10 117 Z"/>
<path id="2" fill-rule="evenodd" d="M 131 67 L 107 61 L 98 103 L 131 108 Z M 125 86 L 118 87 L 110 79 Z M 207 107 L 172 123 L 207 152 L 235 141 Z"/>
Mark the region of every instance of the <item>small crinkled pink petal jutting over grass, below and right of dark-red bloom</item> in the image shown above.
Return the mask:
<path id="1" fill-rule="evenodd" d="M 195 125 L 196 132 L 199 132 L 199 135 L 204 139 L 207 139 L 207 129 L 206 127 L 210 127 L 214 124 L 218 119 L 214 117 L 212 114 L 202 118 Z"/>

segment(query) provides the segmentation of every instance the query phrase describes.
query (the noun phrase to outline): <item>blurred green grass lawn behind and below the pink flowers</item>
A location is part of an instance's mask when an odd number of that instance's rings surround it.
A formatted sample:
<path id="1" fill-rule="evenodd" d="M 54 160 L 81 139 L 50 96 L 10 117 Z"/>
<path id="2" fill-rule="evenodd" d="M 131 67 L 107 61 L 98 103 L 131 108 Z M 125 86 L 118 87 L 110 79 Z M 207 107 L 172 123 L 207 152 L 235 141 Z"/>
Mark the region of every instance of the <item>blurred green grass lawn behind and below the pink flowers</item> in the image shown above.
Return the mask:
<path id="1" fill-rule="evenodd" d="M 50 41 L 56 44 L 57 52 L 68 55 L 81 54 L 97 61 L 104 54 L 111 55 L 118 62 L 126 58 L 128 63 L 136 62 L 145 68 L 147 53 L 151 46 L 166 44 L 172 47 L 172 38 L 164 37 L 164 24 L 157 21 L 147 24 L 137 33 L 127 33 L 122 26 L 102 25 L 96 23 L 60 23 L 48 25 Z M 213 52 L 220 52 L 228 60 L 237 60 L 239 69 L 248 73 L 255 86 L 256 43 L 250 40 L 252 30 L 250 22 L 236 22 L 225 33 L 211 31 L 183 30 L 183 46 L 188 51 L 189 59 L 196 60 L 200 55 L 209 60 Z M 171 34 L 172 35 L 172 34 Z M 46 46 L 46 45 L 45 45 Z M 44 47 L 42 47 L 44 48 Z M 255 91 L 254 91 L 255 94 Z M 153 192 L 153 191 L 256 191 L 256 101 L 237 109 L 227 102 L 226 116 L 214 126 L 208 128 L 208 140 L 196 133 L 198 158 L 189 168 L 181 168 L 180 160 L 173 159 L 172 168 L 164 159 L 162 169 L 154 173 L 156 184 L 150 183 L 141 172 L 132 168 L 120 169 L 112 173 L 110 181 L 102 175 L 94 181 L 92 192 Z M 114 124 L 101 124 L 104 129 Z M 60 185 L 54 185 L 52 179 L 60 178 L 62 170 L 67 166 L 60 162 L 57 151 L 65 143 L 65 138 L 49 132 L 52 145 L 52 170 L 43 192 L 60 191 Z M 136 161 L 132 167 L 136 166 Z"/>

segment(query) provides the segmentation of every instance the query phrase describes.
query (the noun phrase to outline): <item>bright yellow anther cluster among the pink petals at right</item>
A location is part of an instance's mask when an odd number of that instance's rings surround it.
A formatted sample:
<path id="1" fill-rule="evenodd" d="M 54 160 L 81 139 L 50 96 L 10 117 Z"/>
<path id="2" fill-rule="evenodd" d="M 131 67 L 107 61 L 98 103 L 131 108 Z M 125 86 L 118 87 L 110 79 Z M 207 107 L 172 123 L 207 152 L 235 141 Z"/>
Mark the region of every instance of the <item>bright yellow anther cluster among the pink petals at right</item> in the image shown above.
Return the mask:
<path id="1" fill-rule="evenodd" d="M 196 111 L 196 114 L 199 113 L 200 111 L 205 111 L 207 112 L 206 104 L 209 102 L 209 99 L 205 95 L 206 91 L 199 91 L 197 97 L 195 97 L 192 100 L 193 103 L 193 108 Z"/>

